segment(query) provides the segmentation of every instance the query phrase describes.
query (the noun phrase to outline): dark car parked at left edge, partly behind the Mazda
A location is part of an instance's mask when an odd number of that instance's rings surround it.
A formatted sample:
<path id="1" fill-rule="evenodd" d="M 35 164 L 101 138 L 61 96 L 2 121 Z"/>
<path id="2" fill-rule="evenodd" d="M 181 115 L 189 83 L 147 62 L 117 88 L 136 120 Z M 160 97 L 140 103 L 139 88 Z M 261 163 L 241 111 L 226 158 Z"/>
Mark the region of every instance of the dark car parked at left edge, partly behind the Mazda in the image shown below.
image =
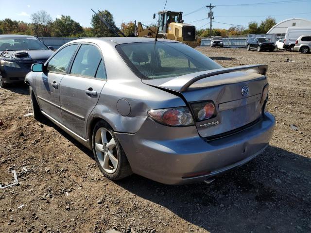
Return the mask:
<path id="1" fill-rule="evenodd" d="M 44 63 L 53 48 L 30 35 L 0 35 L 0 86 L 24 82 L 34 63 Z"/>

